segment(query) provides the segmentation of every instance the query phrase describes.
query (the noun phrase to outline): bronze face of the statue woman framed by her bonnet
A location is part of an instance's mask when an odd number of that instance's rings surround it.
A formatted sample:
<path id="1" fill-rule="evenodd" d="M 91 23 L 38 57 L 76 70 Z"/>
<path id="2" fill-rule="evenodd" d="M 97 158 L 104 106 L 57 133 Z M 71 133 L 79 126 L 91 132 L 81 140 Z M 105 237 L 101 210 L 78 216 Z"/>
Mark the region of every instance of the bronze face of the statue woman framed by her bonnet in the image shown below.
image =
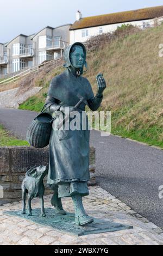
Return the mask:
<path id="1" fill-rule="evenodd" d="M 71 64 L 76 69 L 80 69 L 83 67 L 84 62 L 84 52 L 82 46 L 77 46 L 75 51 L 70 54 Z"/>

